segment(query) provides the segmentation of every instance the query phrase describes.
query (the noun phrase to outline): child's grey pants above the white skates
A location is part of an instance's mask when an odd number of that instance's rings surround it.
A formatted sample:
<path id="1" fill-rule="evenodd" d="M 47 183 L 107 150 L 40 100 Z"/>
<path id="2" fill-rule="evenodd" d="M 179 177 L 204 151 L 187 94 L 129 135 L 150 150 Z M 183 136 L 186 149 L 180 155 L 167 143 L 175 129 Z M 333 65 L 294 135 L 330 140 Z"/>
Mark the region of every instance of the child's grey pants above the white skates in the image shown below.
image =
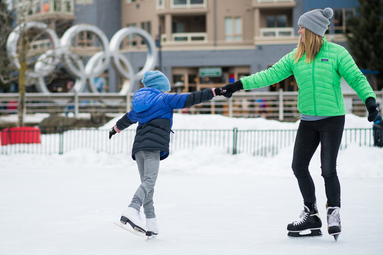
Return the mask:
<path id="1" fill-rule="evenodd" d="M 156 184 L 160 151 L 159 150 L 140 150 L 134 154 L 141 177 L 141 185 L 134 193 L 129 207 L 140 210 L 143 205 L 143 212 L 147 219 L 155 218 L 153 206 L 154 185 Z"/>

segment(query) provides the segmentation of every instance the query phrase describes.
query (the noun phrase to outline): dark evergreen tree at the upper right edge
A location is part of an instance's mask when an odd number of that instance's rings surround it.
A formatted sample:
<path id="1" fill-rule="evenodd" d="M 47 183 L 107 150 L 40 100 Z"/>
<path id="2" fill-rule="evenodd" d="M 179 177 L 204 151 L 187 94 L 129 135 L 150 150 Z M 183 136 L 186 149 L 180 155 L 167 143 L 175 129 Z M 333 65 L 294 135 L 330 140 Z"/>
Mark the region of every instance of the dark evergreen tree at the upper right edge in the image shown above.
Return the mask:
<path id="1" fill-rule="evenodd" d="M 378 70 L 377 90 L 383 88 L 383 0 L 358 0 L 356 16 L 347 20 L 350 52 L 359 68 Z M 376 77 L 375 77 L 376 78 Z"/>

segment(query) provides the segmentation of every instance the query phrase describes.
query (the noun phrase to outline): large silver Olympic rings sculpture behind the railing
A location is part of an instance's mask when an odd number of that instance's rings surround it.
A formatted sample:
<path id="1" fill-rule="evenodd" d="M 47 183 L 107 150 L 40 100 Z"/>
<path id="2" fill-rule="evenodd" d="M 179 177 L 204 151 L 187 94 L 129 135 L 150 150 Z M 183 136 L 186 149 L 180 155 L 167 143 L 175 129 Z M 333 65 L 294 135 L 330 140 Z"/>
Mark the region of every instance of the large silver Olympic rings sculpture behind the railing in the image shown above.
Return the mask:
<path id="1" fill-rule="evenodd" d="M 139 28 L 123 28 L 118 30 L 110 42 L 108 41 L 105 33 L 98 27 L 92 24 L 77 24 L 70 27 L 61 37 L 58 38 L 57 34 L 45 23 L 31 21 L 18 25 L 8 36 L 7 39 L 7 54 L 8 58 L 17 69 L 20 69 L 20 63 L 17 58 L 17 42 L 20 37 L 21 30 L 38 29 L 42 31 L 51 42 L 52 49 L 47 50 L 41 54 L 34 62 L 33 70 L 27 71 L 27 80 L 36 81 L 35 85 L 39 92 L 50 94 L 47 89 L 44 77 L 52 73 L 56 66 L 62 59 L 65 67 L 68 69 L 71 75 L 76 77 L 74 90 L 76 92 L 82 92 L 85 86 L 88 84 L 90 92 L 99 93 L 97 87 L 94 84 L 94 78 L 99 77 L 112 63 L 114 69 L 122 75 L 129 82 L 125 82 L 119 94 L 126 95 L 131 92 L 135 80 L 139 80 L 143 77 L 143 73 L 151 70 L 157 63 L 157 51 L 156 45 L 148 32 Z M 89 58 L 86 64 L 81 60 L 80 56 L 70 52 L 71 41 L 77 34 L 89 31 L 95 34 L 101 43 L 102 50 Z M 123 39 L 129 35 L 136 34 L 142 37 L 143 41 L 148 47 L 148 54 L 145 65 L 143 68 L 134 73 L 132 64 L 123 54 L 118 50 L 121 46 Z"/>

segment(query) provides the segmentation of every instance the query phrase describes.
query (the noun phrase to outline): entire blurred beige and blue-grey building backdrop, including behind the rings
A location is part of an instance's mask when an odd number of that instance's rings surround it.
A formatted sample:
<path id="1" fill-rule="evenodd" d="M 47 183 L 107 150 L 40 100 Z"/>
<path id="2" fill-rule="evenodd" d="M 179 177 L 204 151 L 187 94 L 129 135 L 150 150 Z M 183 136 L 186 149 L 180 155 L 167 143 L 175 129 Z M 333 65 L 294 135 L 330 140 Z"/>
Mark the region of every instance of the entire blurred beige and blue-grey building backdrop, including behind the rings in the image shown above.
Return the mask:
<path id="1" fill-rule="evenodd" d="M 15 6 L 31 1 L 16 0 Z M 357 0 L 33 0 L 32 20 L 70 25 L 90 23 L 110 40 L 121 28 L 138 27 L 157 41 L 156 69 L 170 80 L 174 91 L 192 92 L 218 87 L 265 70 L 293 50 L 299 40 L 298 19 L 312 9 L 331 7 L 328 41 L 347 47 L 346 20 L 355 15 Z M 60 18 L 57 18 L 60 17 Z M 60 34 L 59 34 L 60 36 Z M 77 37 L 85 58 L 97 52 L 97 39 Z M 82 47 L 82 49 L 81 49 Z M 87 48 L 87 49 L 86 49 Z M 121 54 L 138 72 L 146 62 L 147 46 L 140 36 L 124 39 Z M 103 74 L 103 91 L 117 92 L 124 79 L 112 67 Z M 133 91 L 140 86 L 134 84 Z M 294 77 L 258 91 L 297 91 Z"/>

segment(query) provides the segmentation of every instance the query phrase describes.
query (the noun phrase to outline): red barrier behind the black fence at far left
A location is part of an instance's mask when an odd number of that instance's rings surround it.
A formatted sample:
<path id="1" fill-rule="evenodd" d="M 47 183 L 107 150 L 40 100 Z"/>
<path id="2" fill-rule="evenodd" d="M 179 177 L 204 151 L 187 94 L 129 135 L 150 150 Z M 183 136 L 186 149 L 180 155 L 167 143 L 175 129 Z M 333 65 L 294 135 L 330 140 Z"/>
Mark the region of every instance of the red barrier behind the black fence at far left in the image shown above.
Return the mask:
<path id="1" fill-rule="evenodd" d="M 34 126 L 8 127 L 0 131 L 1 145 L 14 143 L 41 143 L 41 131 Z"/>

